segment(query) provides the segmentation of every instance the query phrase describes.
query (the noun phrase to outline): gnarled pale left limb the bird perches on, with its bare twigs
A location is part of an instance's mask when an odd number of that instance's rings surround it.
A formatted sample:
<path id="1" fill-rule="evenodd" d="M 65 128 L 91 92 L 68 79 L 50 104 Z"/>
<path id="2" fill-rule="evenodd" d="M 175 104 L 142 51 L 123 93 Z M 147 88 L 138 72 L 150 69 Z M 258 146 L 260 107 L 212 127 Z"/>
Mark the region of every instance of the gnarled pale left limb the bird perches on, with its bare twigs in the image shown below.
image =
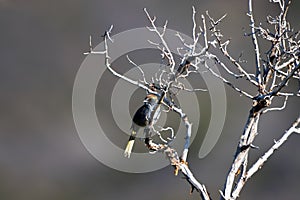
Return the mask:
<path id="1" fill-rule="evenodd" d="M 159 38 L 160 38 L 160 42 L 161 44 L 157 44 L 153 41 L 149 41 L 151 44 L 157 46 L 158 49 L 160 49 L 162 51 L 162 54 L 168 59 L 169 61 L 169 67 L 170 67 L 170 74 L 174 75 L 175 74 L 175 60 L 173 57 L 172 52 L 170 51 L 166 41 L 164 40 L 164 34 L 166 31 L 166 25 L 167 22 L 163 28 L 162 32 L 159 32 L 158 28 L 155 25 L 155 20 L 156 18 L 151 18 L 149 13 L 147 12 L 146 9 L 144 9 L 150 23 L 151 23 L 151 27 L 148 27 L 149 31 L 155 32 Z M 113 42 L 111 37 L 110 37 L 110 33 L 111 33 L 112 27 L 109 29 L 109 31 L 106 31 L 104 34 L 104 51 L 102 52 L 96 52 L 93 51 L 92 48 L 92 43 L 91 43 L 91 38 L 90 38 L 90 51 L 87 53 L 84 53 L 85 55 L 87 54 L 104 54 L 105 56 L 105 66 L 107 67 L 107 69 L 115 76 L 123 79 L 124 81 L 127 81 L 133 85 L 136 85 L 137 87 L 140 87 L 148 92 L 151 93 L 159 93 L 160 91 L 155 91 L 152 90 L 151 87 L 149 87 L 149 83 L 147 82 L 146 78 L 145 78 L 145 74 L 143 72 L 143 70 L 135 63 L 133 62 L 128 56 L 127 56 L 127 60 L 129 61 L 130 64 L 132 64 L 133 66 L 135 66 L 141 73 L 143 80 L 142 81 L 134 81 L 124 75 L 121 75 L 120 73 L 116 72 L 112 67 L 111 64 L 109 63 L 109 48 L 108 48 L 108 40 Z M 196 45 L 196 43 L 195 43 Z M 196 92 L 196 91 L 206 91 L 203 89 L 188 89 L 184 86 L 184 84 L 182 84 L 180 81 L 177 80 L 177 78 L 181 77 L 181 78 L 186 78 L 191 72 L 193 71 L 189 71 L 186 70 L 185 71 L 186 74 L 178 74 L 177 77 L 175 77 L 175 80 L 173 79 L 169 79 L 169 80 L 162 80 L 162 76 L 164 73 L 168 73 L 168 72 L 162 72 L 158 77 L 156 77 L 156 80 L 159 80 L 159 84 L 163 85 L 163 96 L 161 96 L 161 99 L 163 99 L 165 97 L 165 94 L 170 91 L 171 92 L 171 88 L 176 88 L 177 90 L 185 90 L 185 91 L 190 91 L 190 92 Z M 172 77 L 171 75 L 169 75 L 168 77 Z M 177 83 L 175 84 L 174 81 Z M 176 95 L 176 94 L 173 94 Z M 163 103 L 161 100 L 158 103 Z M 208 192 L 206 191 L 206 188 L 204 185 L 202 185 L 201 183 L 198 182 L 198 180 L 194 177 L 193 173 L 191 172 L 191 170 L 189 169 L 188 165 L 187 165 L 187 158 L 188 158 L 188 151 L 189 151 L 189 147 L 190 147 L 190 139 L 191 139 L 191 135 L 192 135 L 192 124 L 189 122 L 187 115 L 183 112 L 183 110 L 181 108 L 179 108 L 178 106 L 176 106 L 175 104 L 171 104 L 171 105 L 166 105 L 169 107 L 169 110 L 172 110 L 176 113 L 179 114 L 180 118 L 182 119 L 182 121 L 184 122 L 185 126 L 186 126 L 186 136 L 185 136 L 185 144 L 184 144 L 184 148 L 183 148 L 183 152 L 181 154 L 181 156 L 178 156 L 177 151 L 174 148 L 171 148 L 168 144 L 168 142 L 163 139 L 159 133 L 159 131 L 155 130 L 153 128 L 154 124 L 150 124 L 148 125 L 147 129 L 148 130 L 152 130 L 154 132 L 158 132 L 158 135 L 161 139 L 161 141 L 163 143 L 155 143 L 152 140 L 147 141 L 146 145 L 149 148 L 150 151 L 158 151 L 158 152 L 164 152 L 166 154 L 166 156 L 168 157 L 168 159 L 170 160 L 170 164 L 172 166 L 175 167 L 175 175 L 178 174 L 179 171 L 182 172 L 182 174 L 184 175 L 185 179 L 187 180 L 187 182 L 191 185 L 192 191 L 196 190 L 199 192 L 200 196 L 202 197 L 202 199 L 205 200 L 209 200 L 210 196 L 208 194 Z M 155 112 L 154 112 L 155 113 Z M 153 116 L 151 116 L 151 118 L 153 118 Z M 171 127 L 167 127 L 167 128 L 161 128 L 161 130 L 171 130 L 173 133 L 173 129 Z M 174 137 L 172 136 L 171 138 L 169 138 L 169 140 L 174 139 Z"/>

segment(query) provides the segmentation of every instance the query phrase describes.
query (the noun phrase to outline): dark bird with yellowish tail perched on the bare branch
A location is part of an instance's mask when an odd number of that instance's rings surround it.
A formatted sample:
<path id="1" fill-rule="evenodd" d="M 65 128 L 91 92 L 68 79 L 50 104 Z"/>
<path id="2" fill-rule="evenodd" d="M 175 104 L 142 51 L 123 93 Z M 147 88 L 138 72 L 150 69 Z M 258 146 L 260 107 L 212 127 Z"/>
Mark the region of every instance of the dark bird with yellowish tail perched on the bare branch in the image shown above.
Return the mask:
<path id="1" fill-rule="evenodd" d="M 141 127 L 155 124 L 160 115 L 160 107 L 158 104 L 159 95 L 149 93 L 144 104 L 135 112 L 132 119 L 131 135 L 125 148 L 124 156 L 130 157 L 136 134 Z"/>

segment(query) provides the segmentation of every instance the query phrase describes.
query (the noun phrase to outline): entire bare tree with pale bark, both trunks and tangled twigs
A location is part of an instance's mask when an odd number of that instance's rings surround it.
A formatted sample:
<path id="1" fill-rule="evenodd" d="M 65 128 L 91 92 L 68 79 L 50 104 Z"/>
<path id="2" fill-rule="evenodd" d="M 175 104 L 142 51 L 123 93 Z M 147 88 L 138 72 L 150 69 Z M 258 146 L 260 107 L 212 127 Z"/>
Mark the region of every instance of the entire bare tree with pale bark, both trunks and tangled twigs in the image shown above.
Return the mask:
<path id="1" fill-rule="evenodd" d="M 189 122 L 188 116 L 185 114 L 184 110 L 177 106 L 173 101 L 174 96 L 176 96 L 180 91 L 203 91 L 201 89 L 187 88 L 181 81 L 182 79 L 188 78 L 191 73 L 199 73 L 199 65 L 204 65 L 216 78 L 221 79 L 237 93 L 253 101 L 251 109 L 249 110 L 247 122 L 237 145 L 236 153 L 234 155 L 231 168 L 229 169 L 224 188 L 220 190 L 221 199 L 237 199 L 246 182 L 253 174 L 262 168 L 268 158 L 273 155 L 274 151 L 278 149 L 291 134 L 300 134 L 300 117 L 298 117 L 298 119 L 292 123 L 291 127 L 288 128 L 277 141 L 274 141 L 274 145 L 250 166 L 249 152 L 252 149 L 258 148 L 253 144 L 253 141 L 258 134 L 258 124 L 260 122 L 261 115 L 271 111 L 283 110 L 285 109 L 290 97 L 300 96 L 299 91 L 295 91 L 293 87 L 288 87 L 288 84 L 292 79 L 300 82 L 300 40 L 298 38 L 300 32 L 294 31 L 287 20 L 287 12 L 291 5 L 291 0 L 271 0 L 270 2 L 278 5 L 280 8 L 278 15 L 267 16 L 267 23 L 269 26 L 273 27 L 272 30 L 264 28 L 261 23 L 255 22 L 252 11 L 252 0 L 248 1 L 249 10 L 247 14 L 250 20 L 250 33 L 247 35 L 253 41 L 253 49 L 255 53 L 254 74 L 251 74 L 246 70 L 241 58 L 234 58 L 228 51 L 230 40 L 224 40 L 222 31 L 219 29 L 219 25 L 222 23 L 222 20 L 226 17 L 226 15 L 216 20 L 210 16 L 208 12 L 206 12 L 205 15 L 201 15 L 202 24 L 201 26 L 198 26 L 196 24 L 196 11 L 194 7 L 192 14 L 192 43 L 187 43 L 180 34 L 177 35 L 178 39 L 182 42 L 182 47 L 178 48 L 178 53 L 182 56 L 182 60 L 179 65 L 176 64 L 174 55 L 165 40 L 167 21 L 163 25 L 162 29 L 158 28 L 155 24 L 156 18 L 151 17 L 145 9 L 146 16 L 150 22 L 150 27 L 148 27 L 149 31 L 159 37 L 159 41 L 149 42 L 161 51 L 167 66 L 164 70 L 157 73 L 151 83 L 146 81 L 143 70 L 129 57 L 128 61 L 140 70 L 143 80 L 132 80 L 119 74 L 111 67 L 109 62 L 108 43 L 109 41 L 112 41 L 110 38 L 112 27 L 106 31 L 104 35 L 105 45 L 103 52 L 93 51 L 90 42 L 90 51 L 87 54 L 104 54 L 105 66 L 113 75 L 146 90 L 148 93 L 155 94 L 160 97 L 157 101 L 156 109 L 160 106 L 165 106 L 169 111 L 174 111 L 179 114 L 186 126 L 185 144 L 180 156 L 176 149 L 169 145 L 170 141 L 172 141 L 174 137 L 172 136 L 168 140 L 165 140 L 161 136 L 162 130 L 173 130 L 172 127 L 156 130 L 154 128 L 155 120 L 153 120 L 153 123 L 150 123 L 147 128 L 150 132 L 157 133 L 160 136 L 161 141 L 153 142 L 150 139 L 147 141 L 145 140 L 145 144 L 151 151 L 165 153 L 170 160 L 170 164 L 175 167 L 175 174 L 177 175 L 178 172 L 181 171 L 188 183 L 191 185 L 192 191 L 195 189 L 199 192 L 202 199 L 211 199 L 211 197 L 204 184 L 200 183 L 193 176 L 187 164 L 192 124 Z M 260 49 L 260 42 L 263 40 L 270 44 L 270 49 L 266 53 L 262 53 Z M 200 48 L 199 44 L 202 44 L 203 47 Z M 211 48 L 220 51 L 225 56 L 225 59 L 228 59 L 231 62 L 231 65 L 226 65 L 225 60 L 222 61 L 222 59 L 217 55 L 209 52 L 209 49 Z M 233 81 L 216 73 L 207 64 L 208 60 L 213 60 L 217 66 L 222 68 L 233 79 L 246 79 L 251 87 L 256 88 L 256 94 L 247 92 L 245 89 L 234 85 Z M 157 84 L 158 86 L 153 88 L 153 84 Z M 283 99 L 283 105 L 281 107 L 272 107 L 272 102 L 275 99 Z"/>

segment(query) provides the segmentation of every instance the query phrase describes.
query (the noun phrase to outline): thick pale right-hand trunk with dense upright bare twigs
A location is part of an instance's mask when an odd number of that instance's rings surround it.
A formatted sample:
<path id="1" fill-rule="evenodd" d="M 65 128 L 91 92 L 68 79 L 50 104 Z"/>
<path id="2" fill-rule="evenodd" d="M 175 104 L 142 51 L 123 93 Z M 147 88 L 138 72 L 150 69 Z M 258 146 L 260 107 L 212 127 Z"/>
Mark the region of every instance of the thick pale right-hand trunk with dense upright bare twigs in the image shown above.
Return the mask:
<path id="1" fill-rule="evenodd" d="M 273 1 L 273 3 L 280 4 L 281 13 L 276 20 L 273 20 L 272 23 L 270 23 L 275 25 L 275 32 L 271 33 L 270 31 L 265 31 L 261 25 L 259 27 L 255 25 L 252 11 L 252 0 L 249 0 L 248 16 L 250 17 L 251 28 L 251 34 L 249 35 L 252 36 L 255 50 L 255 77 L 257 83 L 255 85 L 257 86 L 258 95 L 253 98 L 253 106 L 249 112 L 248 121 L 246 122 L 244 132 L 240 138 L 240 142 L 237 147 L 231 169 L 229 170 L 224 189 L 221 192 L 222 199 L 226 200 L 237 199 L 248 178 L 262 167 L 266 161 L 265 159 L 272 155 L 272 153 L 270 154 L 270 151 L 268 151 L 266 153 L 268 154 L 267 157 L 263 156 L 257 161 L 257 163 L 260 163 L 259 167 L 252 167 L 250 169 L 251 171 L 247 170 L 249 152 L 251 148 L 255 147 L 253 145 L 253 141 L 258 133 L 257 129 L 261 114 L 272 110 L 283 110 L 286 107 L 288 95 L 285 95 L 286 97 L 282 107 L 265 109 L 272 104 L 272 100 L 277 98 L 278 94 L 284 88 L 287 88 L 288 82 L 294 78 L 296 73 L 299 71 L 299 41 L 294 41 L 294 38 L 289 36 L 289 33 L 292 31 L 290 30 L 286 20 L 286 12 L 291 1 L 279 0 Z M 269 19 L 271 19 L 271 17 L 269 17 Z M 260 36 L 261 39 L 267 39 L 271 41 L 271 49 L 268 51 L 266 59 L 261 58 L 256 34 Z M 221 46 L 220 42 L 218 44 Z M 289 48 L 287 48 L 287 44 Z M 221 51 L 224 52 L 222 47 L 220 48 Z M 288 53 L 290 51 L 289 49 L 293 49 L 292 54 Z M 262 66 L 263 70 L 261 70 Z M 278 71 L 279 69 L 280 72 Z M 284 74 L 284 76 L 282 74 Z M 276 146 L 276 148 L 279 146 Z M 264 160 L 264 162 L 261 162 L 261 160 Z M 241 174 L 240 171 L 242 171 Z M 249 176 L 250 172 L 251 176 Z"/>

